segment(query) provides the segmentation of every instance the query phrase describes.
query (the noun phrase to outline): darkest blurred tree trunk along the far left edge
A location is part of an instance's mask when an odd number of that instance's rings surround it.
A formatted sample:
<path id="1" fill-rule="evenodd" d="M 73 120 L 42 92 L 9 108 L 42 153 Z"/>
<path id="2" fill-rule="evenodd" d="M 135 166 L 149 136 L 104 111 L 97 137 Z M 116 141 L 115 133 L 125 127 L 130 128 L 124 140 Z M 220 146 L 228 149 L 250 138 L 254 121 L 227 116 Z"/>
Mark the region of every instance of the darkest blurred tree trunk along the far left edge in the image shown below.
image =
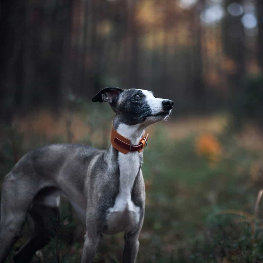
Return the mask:
<path id="1" fill-rule="evenodd" d="M 0 115 L 9 122 L 21 104 L 26 3 L 0 2 Z"/>

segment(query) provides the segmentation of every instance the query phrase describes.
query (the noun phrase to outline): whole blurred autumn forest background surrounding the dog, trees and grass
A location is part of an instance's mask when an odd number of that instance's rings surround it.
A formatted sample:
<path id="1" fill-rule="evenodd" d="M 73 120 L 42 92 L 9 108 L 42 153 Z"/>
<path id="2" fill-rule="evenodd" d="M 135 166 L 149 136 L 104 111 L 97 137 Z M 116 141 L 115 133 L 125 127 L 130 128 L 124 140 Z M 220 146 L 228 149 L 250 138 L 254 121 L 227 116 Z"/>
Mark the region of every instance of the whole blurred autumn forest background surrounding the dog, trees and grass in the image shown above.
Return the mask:
<path id="1" fill-rule="evenodd" d="M 0 185 L 45 144 L 107 148 L 98 90 L 152 90 L 175 105 L 149 128 L 138 262 L 263 262 L 262 0 L 1 0 L 0 47 Z M 84 227 L 61 213 L 34 262 L 79 262 Z M 122 244 L 105 237 L 97 262 Z"/>

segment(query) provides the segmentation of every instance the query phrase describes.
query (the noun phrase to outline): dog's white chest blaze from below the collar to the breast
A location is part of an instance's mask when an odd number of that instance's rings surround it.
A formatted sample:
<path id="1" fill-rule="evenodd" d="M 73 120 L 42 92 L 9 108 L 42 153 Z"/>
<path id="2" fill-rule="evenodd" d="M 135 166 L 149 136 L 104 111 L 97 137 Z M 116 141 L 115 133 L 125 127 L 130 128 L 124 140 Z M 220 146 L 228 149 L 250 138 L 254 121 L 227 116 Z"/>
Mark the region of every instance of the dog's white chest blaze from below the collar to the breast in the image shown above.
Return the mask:
<path id="1" fill-rule="evenodd" d="M 128 232 L 140 219 L 140 208 L 131 200 L 131 191 L 140 169 L 138 152 L 127 155 L 119 153 L 120 185 L 114 206 L 108 209 L 106 234 Z"/>

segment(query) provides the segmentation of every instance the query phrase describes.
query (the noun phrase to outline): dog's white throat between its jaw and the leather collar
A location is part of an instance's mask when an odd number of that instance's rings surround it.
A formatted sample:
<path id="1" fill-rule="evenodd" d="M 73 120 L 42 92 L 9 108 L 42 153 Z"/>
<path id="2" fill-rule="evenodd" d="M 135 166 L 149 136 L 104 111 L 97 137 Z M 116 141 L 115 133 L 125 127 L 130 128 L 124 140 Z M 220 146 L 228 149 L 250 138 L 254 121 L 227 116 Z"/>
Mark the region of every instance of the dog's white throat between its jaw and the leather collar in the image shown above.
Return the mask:
<path id="1" fill-rule="evenodd" d="M 123 137 L 130 140 L 132 145 L 139 144 L 144 135 L 146 126 L 141 124 L 127 125 L 124 123 L 116 124 L 113 120 L 114 129 Z"/>

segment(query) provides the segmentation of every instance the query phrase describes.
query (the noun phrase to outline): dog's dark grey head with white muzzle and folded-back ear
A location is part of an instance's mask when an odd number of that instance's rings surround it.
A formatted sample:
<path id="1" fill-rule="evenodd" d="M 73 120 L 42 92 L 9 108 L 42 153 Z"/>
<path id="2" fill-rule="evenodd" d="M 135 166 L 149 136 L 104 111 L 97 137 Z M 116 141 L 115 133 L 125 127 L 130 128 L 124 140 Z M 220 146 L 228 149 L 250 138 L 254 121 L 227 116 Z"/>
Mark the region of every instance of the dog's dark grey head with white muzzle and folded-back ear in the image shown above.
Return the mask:
<path id="1" fill-rule="evenodd" d="M 109 102 L 122 123 L 127 125 L 142 123 L 146 126 L 167 118 L 174 105 L 171 100 L 156 98 L 148 90 L 117 87 L 100 90 L 92 101 Z"/>

